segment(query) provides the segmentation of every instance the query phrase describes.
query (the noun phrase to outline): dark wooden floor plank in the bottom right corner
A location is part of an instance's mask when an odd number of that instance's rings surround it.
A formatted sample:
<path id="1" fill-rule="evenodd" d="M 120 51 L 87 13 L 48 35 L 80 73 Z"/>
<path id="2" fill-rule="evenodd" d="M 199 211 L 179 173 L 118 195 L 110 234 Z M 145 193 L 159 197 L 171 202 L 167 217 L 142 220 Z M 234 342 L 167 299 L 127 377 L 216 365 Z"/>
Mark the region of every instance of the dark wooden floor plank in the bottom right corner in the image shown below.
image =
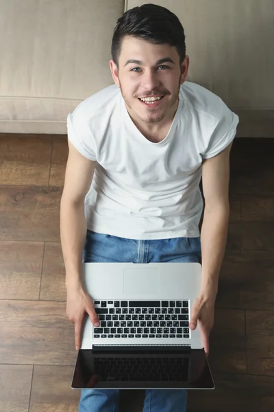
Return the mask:
<path id="1" fill-rule="evenodd" d="M 274 377 L 215 374 L 212 391 L 188 391 L 190 412 L 273 412 Z"/>

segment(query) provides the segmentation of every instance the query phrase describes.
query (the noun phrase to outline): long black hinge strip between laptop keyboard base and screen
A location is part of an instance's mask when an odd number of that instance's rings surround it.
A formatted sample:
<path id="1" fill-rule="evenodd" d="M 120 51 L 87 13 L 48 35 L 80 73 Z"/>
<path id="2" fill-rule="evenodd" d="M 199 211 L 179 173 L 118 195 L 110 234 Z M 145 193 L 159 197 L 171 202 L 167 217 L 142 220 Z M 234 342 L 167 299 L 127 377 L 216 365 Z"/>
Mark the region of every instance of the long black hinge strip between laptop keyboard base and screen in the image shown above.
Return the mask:
<path id="1" fill-rule="evenodd" d="M 189 345 L 92 345 L 94 354 L 182 354 L 190 351 Z"/>

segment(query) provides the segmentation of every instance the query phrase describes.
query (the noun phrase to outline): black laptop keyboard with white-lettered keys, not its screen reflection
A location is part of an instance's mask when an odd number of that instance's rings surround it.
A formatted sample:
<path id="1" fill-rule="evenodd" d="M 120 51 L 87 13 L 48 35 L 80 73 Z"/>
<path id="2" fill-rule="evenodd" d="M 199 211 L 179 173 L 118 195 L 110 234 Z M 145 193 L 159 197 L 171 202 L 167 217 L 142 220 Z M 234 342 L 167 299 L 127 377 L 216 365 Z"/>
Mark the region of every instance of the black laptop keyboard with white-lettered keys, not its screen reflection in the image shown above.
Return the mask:
<path id="1" fill-rule="evenodd" d="M 95 300 L 94 338 L 189 338 L 188 300 Z"/>

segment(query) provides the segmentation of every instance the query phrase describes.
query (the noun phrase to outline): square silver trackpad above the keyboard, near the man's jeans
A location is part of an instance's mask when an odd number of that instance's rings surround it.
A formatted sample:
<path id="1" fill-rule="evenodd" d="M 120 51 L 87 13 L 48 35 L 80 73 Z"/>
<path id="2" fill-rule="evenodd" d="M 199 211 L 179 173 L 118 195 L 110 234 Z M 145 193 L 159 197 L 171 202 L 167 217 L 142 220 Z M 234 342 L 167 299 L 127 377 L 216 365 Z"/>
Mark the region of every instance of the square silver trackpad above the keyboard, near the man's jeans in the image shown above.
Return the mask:
<path id="1" fill-rule="evenodd" d="M 153 295 L 159 292 L 157 268 L 125 268 L 123 278 L 125 295 Z"/>

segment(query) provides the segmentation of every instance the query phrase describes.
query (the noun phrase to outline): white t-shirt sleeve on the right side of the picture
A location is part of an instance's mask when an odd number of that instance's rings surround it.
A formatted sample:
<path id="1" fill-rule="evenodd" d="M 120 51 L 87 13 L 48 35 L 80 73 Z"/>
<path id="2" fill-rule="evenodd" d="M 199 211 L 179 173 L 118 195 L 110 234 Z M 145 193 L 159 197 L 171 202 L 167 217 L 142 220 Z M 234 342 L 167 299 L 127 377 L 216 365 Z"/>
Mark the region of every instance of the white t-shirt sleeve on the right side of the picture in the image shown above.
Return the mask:
<path id="1" fill-rule="evenodd" d="M 223 102 L 221 119 L 214 128 L 206 150 L 201 153 L 203 159 L 210 159 L 224 150 L 236 135 L 239 117 Z"/>

